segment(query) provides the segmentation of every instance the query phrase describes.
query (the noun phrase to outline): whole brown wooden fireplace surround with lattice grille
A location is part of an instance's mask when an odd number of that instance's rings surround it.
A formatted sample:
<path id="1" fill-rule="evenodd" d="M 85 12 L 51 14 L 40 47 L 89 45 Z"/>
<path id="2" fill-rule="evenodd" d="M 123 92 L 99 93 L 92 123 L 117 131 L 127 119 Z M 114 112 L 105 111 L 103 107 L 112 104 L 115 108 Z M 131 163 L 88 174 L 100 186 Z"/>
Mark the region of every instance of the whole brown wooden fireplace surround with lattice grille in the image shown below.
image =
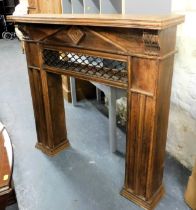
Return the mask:
<path id="1" fill-rule="evenodd" d="M 183 16 L 9 17 L 25 37 L 37 148 L 69 147 L 61 75 L 127 90 L 125 182 L 121 195 L 153 209 L 162 184 L 176 28 Z"/>

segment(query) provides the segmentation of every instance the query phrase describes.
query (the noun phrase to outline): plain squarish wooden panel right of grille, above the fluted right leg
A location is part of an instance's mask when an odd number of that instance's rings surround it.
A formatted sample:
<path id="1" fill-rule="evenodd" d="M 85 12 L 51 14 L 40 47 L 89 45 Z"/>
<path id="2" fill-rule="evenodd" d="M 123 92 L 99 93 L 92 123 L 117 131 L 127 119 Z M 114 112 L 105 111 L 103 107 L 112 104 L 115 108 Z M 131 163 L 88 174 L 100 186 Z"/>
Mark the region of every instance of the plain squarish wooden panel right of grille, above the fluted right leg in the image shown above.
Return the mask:
<path id="1" fill-rule="evenodd" d="M 133 58 L 131 89 L 143 91 L 148 94 L 154 94 L 156 87 L 156 78 L 158 73 L 158 61 Z"/>

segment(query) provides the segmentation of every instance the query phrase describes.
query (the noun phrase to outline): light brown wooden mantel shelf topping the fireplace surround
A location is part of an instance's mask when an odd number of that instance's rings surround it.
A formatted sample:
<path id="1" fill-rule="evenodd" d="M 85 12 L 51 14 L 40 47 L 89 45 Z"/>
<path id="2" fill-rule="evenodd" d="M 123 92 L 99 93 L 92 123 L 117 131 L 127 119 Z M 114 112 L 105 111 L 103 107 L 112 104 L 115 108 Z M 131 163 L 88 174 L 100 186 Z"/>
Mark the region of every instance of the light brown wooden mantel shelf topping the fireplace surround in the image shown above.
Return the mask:
<path id="1" fill-rule="evenodd" d="M 7 19 L 16 23 L 88 25 L 158 30 L 184 22 L 184 16 L 177 14 L 164 16 L 136 16 L 120 14 L 31 14 L 23 16 L 8 16 Z"/>

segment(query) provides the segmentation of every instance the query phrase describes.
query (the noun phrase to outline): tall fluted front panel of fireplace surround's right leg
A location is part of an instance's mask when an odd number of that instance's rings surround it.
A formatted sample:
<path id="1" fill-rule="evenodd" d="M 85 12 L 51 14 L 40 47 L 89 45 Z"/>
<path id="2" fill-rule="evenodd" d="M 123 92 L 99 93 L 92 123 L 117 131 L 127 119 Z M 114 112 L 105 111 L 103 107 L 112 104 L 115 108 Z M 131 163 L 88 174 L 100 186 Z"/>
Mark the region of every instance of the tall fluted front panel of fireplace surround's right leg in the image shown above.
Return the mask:
<path id="1" fill-rule="evenodd" d="M 137 93 L 130 93 L 128 101 L 125 185 L 135 194 L 145 197 L 155 102 L 152 98 Z"/>

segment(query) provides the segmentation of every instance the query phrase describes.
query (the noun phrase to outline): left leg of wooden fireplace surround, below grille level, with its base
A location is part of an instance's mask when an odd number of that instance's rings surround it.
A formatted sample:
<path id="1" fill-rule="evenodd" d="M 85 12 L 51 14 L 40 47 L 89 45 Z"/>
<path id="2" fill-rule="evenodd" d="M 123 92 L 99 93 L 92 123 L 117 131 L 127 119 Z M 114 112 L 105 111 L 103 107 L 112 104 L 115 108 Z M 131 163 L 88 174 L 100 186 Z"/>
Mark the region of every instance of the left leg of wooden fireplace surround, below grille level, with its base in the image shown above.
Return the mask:
<path id="1" fill-rule="evenodd" d="M 65 126 L 61 76 L 52 77 L 53 74 L 50 73 L 44 75 L 41 75 L 40 70 L 29 69 L 38 137 L 37 147 L 48 155 L 53 155 L 56 150 L 68 147 L 69 143 Z"/>

